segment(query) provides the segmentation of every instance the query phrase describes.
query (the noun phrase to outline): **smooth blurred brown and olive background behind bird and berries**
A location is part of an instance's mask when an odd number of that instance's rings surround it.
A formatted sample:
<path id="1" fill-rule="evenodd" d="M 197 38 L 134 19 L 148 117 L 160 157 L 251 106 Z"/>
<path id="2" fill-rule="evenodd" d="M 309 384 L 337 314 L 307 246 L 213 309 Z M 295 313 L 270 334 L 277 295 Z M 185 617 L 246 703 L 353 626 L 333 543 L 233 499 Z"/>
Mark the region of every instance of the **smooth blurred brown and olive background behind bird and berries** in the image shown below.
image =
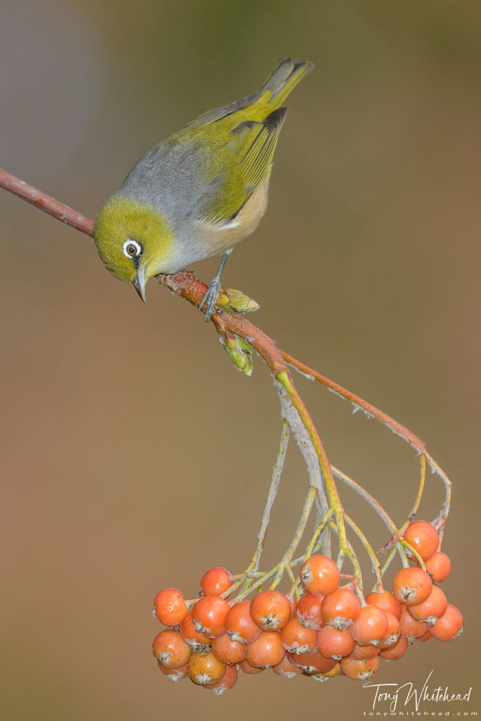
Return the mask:
<path id="1" fill-rule="evenodd" d="M 224 283 L 260 303 L 256 322 L 288 352 L 418 433 L 453 479 L 444 588 L 466 632 L 377 677 L 474 686 L 469 704 L 421 707 L 443 712 L 480 710 L 480 34 L 477 1 L 0 6 L 1 165 L 90 217 L 147 149 L 260 87 L 278 58 L 317 64 L 288 102 L 267 216 Z M 369 712 L 372 691 L 344 678 L 265 672 L 216 699 L 161 677 L 156 591 L 195 596 L 206 569 L 250 559 L 281 427 L 272 383 L 260 361 L 237 373 L 190 306 L 154 282 L 144 306 L 87 236 L 4 192 L 0 229 L 2 717 Z M 301 376 L 299 390 L 332 462 L 402 523 L 413 452 Z M 293 443 L 265 567 L 296 526 L 298 456 Z M 431 476 L 426 495 L 432 518 Z"/>

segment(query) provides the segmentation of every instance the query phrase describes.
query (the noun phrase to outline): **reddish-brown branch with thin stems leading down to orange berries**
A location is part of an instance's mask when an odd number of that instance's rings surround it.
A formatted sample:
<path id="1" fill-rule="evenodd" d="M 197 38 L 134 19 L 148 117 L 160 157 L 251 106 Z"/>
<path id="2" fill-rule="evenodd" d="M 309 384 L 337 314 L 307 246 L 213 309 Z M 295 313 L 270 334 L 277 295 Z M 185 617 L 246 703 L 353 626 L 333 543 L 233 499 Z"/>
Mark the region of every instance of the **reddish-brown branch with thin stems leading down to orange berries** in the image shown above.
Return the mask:
<path id="1" fill-rule="evenodd" d="M 26 200 L 28 203 L 35 205 L 35 207 L 40 208 L 42 211 L 49 213 L 51 216 L 57 218 L 63 223 L 66 223 L 89 236 L 93 236 L 94 224 L 92 220 L 81 215 L 81 213 L 77 213 L 72 210 L 69 206 L 60 203 L 55 198 L 51 198 L 50 195 L 43 193 L 37 188 L 28 185 L 22 180 L 19 180 L 19 178 L 16 178 L 12 174 L 1 169 L 0 187 L 4 187 L 6 190 L 9 190 L 9 192 L 17 195 L 23 200 Z M 165 286 L 173 293 L 182 296 L 196 308 L 200 306 L 207 289 L 207 286 L 204 283 L 201 283 L 200 280 L 195 278 L 193 273 L 190 273 L 190 271 L 187 270 L 180 270 L 172 275 L 159 275 L 158 280 L 160 285 Z M 420 567 L 424 569 L 425 565 L 418 552 L 410 547 L 410 544 L 402 538 L 402 534 L 404 533 L 411 518 L 418 511 L 425 488 L 425 469 L 427 463 L 431 468 L 431 472 L 441 479 L 445 489 L 444 505 L 439 511 L 436 521 L 433 522 L 439 532 L 439 548 L 441 548 L 441 542 L 444 536 L 444 526 L 451 505 L 451 481 L 440 466 L 438 466 L 431 454 L 426 451 L 423 441 L 421 441 L 420 438 L 414 435 L 410 430 L 398 423 L 397 420 L 394 420 L 371 403 L 343 388 L 343 386 L 335 383 L 335 381 L 327 379 L 326 376 L 322 376 L 321 373 L 317 373 L 317 371 L 309 368 L 309 366 L 306 366 L 304 363 L 297 361 L 296 358 L 288 355 L 288 353 L 285 353 L 283 350 L 278 348 L 278 345 L 276 345 L 272 338 L 243 317 L 242 314 L 231 314 L 228 311 L 216 309 L 211 317 L 211 322 L 221 337 L 226 337 L 226 334 L 239 337 L 244 341 L 244 343 L 248 344 L 250 348 L 256 350 L 256 352 L 260 355 L 260 358 L 262 358 L 262 360 L 267 364 L 278 389 L 278 394 L 281 399 L 281 415 L 283 417 L 281 441 L 279 443 L 278 453 L 273 466 L 268 499 L 262 514 L 261 528 L 255 553 L 252 556 L 252 560 L 250 565 L 247 567 L 247 570 L 242 575 L 239 575 L 239 577 L 234 577 L 234 583 L 231 585 L 231 588 L 226 591 L 226 594 L 231 594 L 233 590 L 239 588 L 240 586 L 241 591 L 237 598 L 237 600 L 240 600 L 247 596 L 252 590 L 259 588 L 260 585 L 271 579 L 273 579 L 272 587 L 275 588 L 275 585 L 280 583 L 283 573 L 286 573 L 288 578 L 291 580 L 293 593 L 297 593 L 297 585 L 299 581 L 294 579 L 292 567 L 300 562 L 304 562 L 306 554 L 315 552 L 317 547 L 319 547 L 319 549 L 322 547 L 323 552 L 330 556 L 331 531 L 334 531 L 339 539 L 337 565 L 341 570 L 345 558 L 347 557 L 350 559 L 354 567 L 354 575 L 351 586 L 356 589 L 356 593 L 359 593 L 362 589 L 361 568 L 358 563 L 356 553 L 348 540 L 345 522 L 348 523 L 348 526 L 350 526 L 354 533 L 356 533 L 356 535 L 361 539 L 363 547 L 366 549 L 366 552 L 371 559 L 371 563 L 376 574 L 378 588 L 381 588 L 382 586 L 381 576 L 387 570 L 387 567 L 389 567 L 392 558 L 397 552 L 400 554 L 403 566 L 406 567 L 409 565 L 406 554 L 407 549 L 412 556 L 418 559 Z M 306 410 L 304 402 L 302 402 L 301 397 L 297 392 L 296 386 L 294 386 L 291 373 L 289 372 L 289 367 L 295 368 L 299 373 L 307 376 L 309 379 L 314 379 L 327 389 L 330 389 L 330 391 L 337 394 L 339 397 L 348 400 L 348 402 L 353 404 L 355 410 L 362 410 L 367 417 L 374 417 L 376 420 L 379 420 L 380 423 L 383 423 L 383 425 L 392 430 L 393 433 L 399 435 L 420 455 L 420 482 L 418 494 L 409 518 L 402 524 L 399 530 L 389 514 L 384 510 L 384 508 L 382 508 L 378 501 L 374 499 L 374 497 L 372 497 L 366 490 L 339 469 L 330 466 L 325 448 L 319 438 L 316 428 L 314 427 L 312 418 Z M 269 572 L 261 573 L 258 571 L 258 568 L 262 557 L 265 539 L 268 533 L 273 504 L 283 472 L 290 433 L 293 433 L 301 454 L 304 457 L 304 461 L 306 461 L 309 473 L 309 492 L 306 496 L 304 509 L 296 529 L 296 534 L 294 534 L 294 538 L 292 539 L 291 544 L 289 544 L 288 549 L 286 549 L 281 562 L 275 565 L 275 567 L 273 567 L 273 569 Z M 392 532 L 392 538 L 384 547 L 384 551 L 388 551 L 389 556 L 382 567 L 380 567 L 379 561 L 376 558 L 369 541 L 367 541 L 366 536 L 362 534 L 353 519 L 345 513 L 337 491 L 335 478 L 361 495 L 361 497 L 363 497 L 363 499 L 366 500 L 366 502 L 369 503 L 374 510 L 376 510 L 376 513 L 378 513 Z M 302 535 L 304 534 L 314 501 L 317 506 L 317 527 L 311 541 L 309 541 L 306 554 L 297 559 L 293 559 L 294 552 L 301 541 Z"/>

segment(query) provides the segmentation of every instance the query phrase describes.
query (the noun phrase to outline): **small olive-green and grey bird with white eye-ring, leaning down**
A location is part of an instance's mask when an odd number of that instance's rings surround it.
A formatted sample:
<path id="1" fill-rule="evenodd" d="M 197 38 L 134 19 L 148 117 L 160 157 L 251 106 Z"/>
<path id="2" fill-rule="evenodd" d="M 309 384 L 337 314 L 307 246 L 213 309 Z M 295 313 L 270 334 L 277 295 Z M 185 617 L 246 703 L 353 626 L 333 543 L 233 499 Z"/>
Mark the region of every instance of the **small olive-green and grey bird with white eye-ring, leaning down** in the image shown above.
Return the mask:
<path id="1" fill-rule="evenodd" d="M 283 103 L 313 68 L 283 58 L 259 91 L 204 112 L 149 150 L 102 205 L 94 222 L 100 259 L 144 303 L 150 278 L 221 255 L 199 306 L 211 319 L 227 258 L 267 208 Z"/>

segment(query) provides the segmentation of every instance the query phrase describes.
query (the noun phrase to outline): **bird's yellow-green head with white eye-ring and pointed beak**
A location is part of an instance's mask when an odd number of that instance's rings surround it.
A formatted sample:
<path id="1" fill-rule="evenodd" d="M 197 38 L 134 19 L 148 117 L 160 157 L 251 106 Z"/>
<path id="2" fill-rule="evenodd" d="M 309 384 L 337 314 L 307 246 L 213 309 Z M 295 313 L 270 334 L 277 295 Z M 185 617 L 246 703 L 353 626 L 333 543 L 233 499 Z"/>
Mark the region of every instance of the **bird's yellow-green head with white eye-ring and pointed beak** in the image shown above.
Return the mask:
<path id="1" fill-rule="evenodd" d="M 102 263 L 115 278 L 133 283 L 145 303 L 145 286 L 163 273 L 174 236 L 164 216 L 148 205 L 112 196 L 94 224 L 94 240 Z"/>

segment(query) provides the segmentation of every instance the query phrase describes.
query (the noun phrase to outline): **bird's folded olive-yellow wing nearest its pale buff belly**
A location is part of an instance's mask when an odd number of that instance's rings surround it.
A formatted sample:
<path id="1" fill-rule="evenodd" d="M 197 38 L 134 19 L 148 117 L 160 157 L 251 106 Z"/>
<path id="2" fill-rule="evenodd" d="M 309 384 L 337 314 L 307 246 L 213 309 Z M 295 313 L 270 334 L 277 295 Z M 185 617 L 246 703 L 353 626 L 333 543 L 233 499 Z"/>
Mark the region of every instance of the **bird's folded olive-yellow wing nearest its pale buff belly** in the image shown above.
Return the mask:
<path id="1" fill-rule="evenodd" d="M 265 120 L 244 120 L 229 131 L 219 151 L 223 172 L 211 181 L 203 218 L 211 223 L 229 223 L 247 203 L 257 185 L 269 177 L 275 146 L 286 117 L 280 107 Z"/>

